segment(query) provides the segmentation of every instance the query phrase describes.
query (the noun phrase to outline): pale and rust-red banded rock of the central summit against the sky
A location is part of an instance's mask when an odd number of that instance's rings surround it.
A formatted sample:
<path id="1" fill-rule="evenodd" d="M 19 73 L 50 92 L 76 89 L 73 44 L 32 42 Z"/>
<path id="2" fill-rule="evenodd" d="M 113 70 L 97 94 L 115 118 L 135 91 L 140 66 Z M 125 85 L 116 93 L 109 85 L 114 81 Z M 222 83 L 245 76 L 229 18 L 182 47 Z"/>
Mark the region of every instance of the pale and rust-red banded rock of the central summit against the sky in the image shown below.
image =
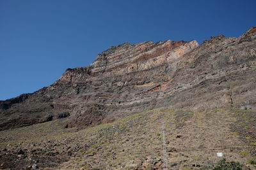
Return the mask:
<path id="1" fill-rule="evenodd" d="M 148 69 L 146 62 L 158 62 L 161 60 L 161 64 L 164 60 L 170 60 L 170 57 L 177 59 L 189 50 L 193 50 L 198 46 L 197 41 L 159 41 L 154 43 L 153 41 L 146 41 L 131 45 L 124 43 L 118 46 L 112 46 L 105 52 L 98 55 L 97 59 L 90 65 L 93 72 L 105 72 L 105 71 L 122 71 L 130 72 L 132 68 L 141 69 L 141 64 Z M 151 64 L 152 66 L 154 64 Z M 124 69 L 124 68 L 127 69 Z M 143 66 L 142 66 L 143 67 Z"/>

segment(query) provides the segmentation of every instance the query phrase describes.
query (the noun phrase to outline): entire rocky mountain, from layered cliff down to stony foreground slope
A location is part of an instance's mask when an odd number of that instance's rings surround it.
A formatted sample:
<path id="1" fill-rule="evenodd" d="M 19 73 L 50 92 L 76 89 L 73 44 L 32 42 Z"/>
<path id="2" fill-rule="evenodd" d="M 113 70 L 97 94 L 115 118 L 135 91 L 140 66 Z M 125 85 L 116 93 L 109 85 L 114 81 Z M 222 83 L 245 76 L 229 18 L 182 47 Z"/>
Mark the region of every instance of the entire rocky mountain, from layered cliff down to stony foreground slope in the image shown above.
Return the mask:
<path id="1" fill-rule="evenodd" d="M 49 87 L 0 101 L 0 168 L 162 169 L 165 122 L 169 167 L 200 169 L 223 152 L 255 169 L 255 77 L 256 27 L 202 45 L 111 46 Z"/>

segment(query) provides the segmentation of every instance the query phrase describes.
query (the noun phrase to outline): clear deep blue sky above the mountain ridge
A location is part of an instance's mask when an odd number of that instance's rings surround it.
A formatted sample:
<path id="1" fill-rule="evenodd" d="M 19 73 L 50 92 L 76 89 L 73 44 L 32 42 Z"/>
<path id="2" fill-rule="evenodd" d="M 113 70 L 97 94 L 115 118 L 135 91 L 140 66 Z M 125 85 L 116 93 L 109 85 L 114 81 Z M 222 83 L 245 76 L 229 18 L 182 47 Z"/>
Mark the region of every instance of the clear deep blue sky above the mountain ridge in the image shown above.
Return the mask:
<path id="1" fill-rule="evenodd" d="M 51 85 L 128 41 L 241 36 L 256 1 L 0 0 L 0 100 Z"/>

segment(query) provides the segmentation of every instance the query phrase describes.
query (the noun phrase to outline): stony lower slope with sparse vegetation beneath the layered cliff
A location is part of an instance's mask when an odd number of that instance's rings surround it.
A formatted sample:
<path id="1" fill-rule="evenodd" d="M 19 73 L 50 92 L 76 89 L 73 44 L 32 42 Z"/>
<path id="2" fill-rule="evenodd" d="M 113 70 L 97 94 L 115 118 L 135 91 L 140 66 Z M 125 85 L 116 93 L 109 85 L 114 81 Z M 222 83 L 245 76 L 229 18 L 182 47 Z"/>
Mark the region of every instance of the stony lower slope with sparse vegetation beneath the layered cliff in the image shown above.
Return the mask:
<path id="1" fill-rule="evenodd" d="M 256 169 L 256 112 L 158 108 L 110 124 L 75 129 L 60 121 L 0 132 L 0 169 L 162 169 L 163 133 L 170 169 L 200 169 L 228 161 Z"/>

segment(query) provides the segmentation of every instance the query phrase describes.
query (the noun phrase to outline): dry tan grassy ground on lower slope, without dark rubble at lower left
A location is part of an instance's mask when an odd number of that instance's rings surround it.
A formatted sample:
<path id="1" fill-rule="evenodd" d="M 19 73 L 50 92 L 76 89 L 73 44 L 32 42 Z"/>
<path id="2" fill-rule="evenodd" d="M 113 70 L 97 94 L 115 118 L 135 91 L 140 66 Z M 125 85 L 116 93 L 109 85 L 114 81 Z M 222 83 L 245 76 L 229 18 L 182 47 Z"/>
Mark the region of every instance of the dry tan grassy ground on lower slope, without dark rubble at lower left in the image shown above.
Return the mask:
<path id="1" fill-rule="evenodd" d="M 216 152 L 223 152 L 227 160 L 246 164 L 246 159 L 255 159 L 250 152 L 255 149 L 250 143 L 255 141 L 250 139 L 246 144 L 239 139 L 241 134 L 230 130 L 230 125 L 238 121 L 236 114 L 228 109 L 193 112 L 159 108 L 78 132 L 62 129 L 60 121 L 65 120 L 55 120 L 0 132 L 0 140 L 5 140 L 0 148 L 8 144 L 28 148 L 31 143 L 35 147 L 41 143 L 63 154 L 71 152 L 68 162 L 56 169 L 127 169 L 133 164 L 150 168 L 162 159 L 161 128 L 165 122 L 168 165 L 174 169 L 200 169 L 218 159 Z"/>

